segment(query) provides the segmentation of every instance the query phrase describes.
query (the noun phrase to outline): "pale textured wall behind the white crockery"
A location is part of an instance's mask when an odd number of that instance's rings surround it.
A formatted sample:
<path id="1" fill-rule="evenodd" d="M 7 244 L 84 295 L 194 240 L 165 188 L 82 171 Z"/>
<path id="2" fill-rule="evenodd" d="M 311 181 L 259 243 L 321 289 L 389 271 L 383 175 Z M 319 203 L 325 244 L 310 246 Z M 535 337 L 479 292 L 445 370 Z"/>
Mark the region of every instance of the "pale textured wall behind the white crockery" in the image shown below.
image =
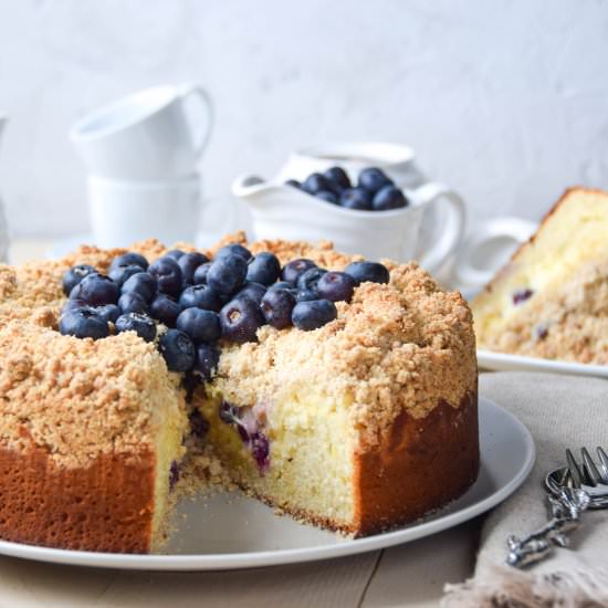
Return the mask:
<path id="1" fill-rule="evenodd" d="M 478 218 L 537 218 L 568 185 L 608 187 L 604 1 L 0 0 L 13 233 L 85 230 L 69 126 L 182 80 L 216 99 L 216 199 L 296 146 L 355 138 L 412 145 Z"/>

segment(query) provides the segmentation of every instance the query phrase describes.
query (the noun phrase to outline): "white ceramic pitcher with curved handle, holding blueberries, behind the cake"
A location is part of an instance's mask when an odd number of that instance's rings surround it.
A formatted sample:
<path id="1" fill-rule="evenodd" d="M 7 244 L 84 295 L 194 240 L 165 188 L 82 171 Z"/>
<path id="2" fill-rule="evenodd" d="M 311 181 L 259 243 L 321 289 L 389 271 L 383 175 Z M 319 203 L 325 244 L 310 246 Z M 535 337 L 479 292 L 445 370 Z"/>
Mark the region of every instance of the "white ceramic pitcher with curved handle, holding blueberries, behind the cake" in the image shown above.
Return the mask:
<path id="1" fill-rule="evenodd" d="M 335 165 L 352 179 L 365 167 L 381 168 L 410 205 L 359 211 L 284 186 L 287 179 L 303 180 Z M 413 161 L 413 151 L 397 144 L 358 141 L 298 150 L 272 180 L 244 176 L 233 182 L 232 192 L 250 207 L 258 239 L 325 239 L 339 251 L 369 260 L 418 260 L 431 272 L 454 252 L 464 230 L 462 199 L 447 186 L 428 181 Z"/>

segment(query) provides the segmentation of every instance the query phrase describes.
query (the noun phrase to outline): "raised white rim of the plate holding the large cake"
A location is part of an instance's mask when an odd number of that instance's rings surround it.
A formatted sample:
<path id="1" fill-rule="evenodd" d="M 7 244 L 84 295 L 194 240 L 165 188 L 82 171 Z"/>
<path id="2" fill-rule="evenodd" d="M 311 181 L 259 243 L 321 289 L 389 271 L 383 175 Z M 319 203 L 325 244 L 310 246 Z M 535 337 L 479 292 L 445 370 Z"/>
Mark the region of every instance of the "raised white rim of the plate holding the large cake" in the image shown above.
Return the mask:
<path id="1" fill-rule="evenodd" d="M 347 539 L 344 543 L 333 545 L 274 551 L 224 554 L 146 555 L 61 549 L 0 539 L 0 555 L 81 567 L 143 572 L 211 572 L 317 562 L 347 557 L 406 544 L 451 528 L 476 515 L 485 513 L 513 494 L 532 471 L 536 459 L 536 448 L 528 429 L 516 416 L 505 408 L 502 408 L 493 400 L 480 396 L 479 403 L 480 409 L 482 407 L 489 408 L 490 410 L 494 410 L 494 415 L 500 412 L 499 416 L 504 416 L 510 419 L 510 423 L 513 426 L 514 430 L 516 429 L 520 438 L 523 439 L 526 444 L 524 463 L 506 484 L 488 494 L 482 500 L 428 522 L 422 521 L 419 524 L 410 524 L 401 530 L 379 533 L 363 538 L 355 538 L 353 541 Z M 475 481 L 475 483 L 478 483 L 478 481 Z M 474 488 L 474 485 L 475 484 L 473 484 L 471 489 Z M 469 489 L 468 492 L 471 491 L 471 489 Z"/>

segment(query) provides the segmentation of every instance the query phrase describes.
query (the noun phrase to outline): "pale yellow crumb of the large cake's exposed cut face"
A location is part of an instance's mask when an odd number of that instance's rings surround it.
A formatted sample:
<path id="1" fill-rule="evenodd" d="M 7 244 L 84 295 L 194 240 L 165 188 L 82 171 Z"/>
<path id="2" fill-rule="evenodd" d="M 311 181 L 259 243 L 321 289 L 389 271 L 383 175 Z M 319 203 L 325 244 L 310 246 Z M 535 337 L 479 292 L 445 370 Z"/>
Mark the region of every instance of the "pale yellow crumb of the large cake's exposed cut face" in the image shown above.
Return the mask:
<path id="1" fill-rule="evenodd" d="M 259 405 L 255 418 L 272 445 L 268 468 L 256 463 L 237 424 L 220 418 L 223 400 L 211 389 L 197 405 L 210 424 L 208 440 L 233 479 L 296 516 L 319 523 L 325 518 L 333 527 L 349 530 L 355 429 L 348 420 L 348 398 L 302 387 L 276 402 Z"/>

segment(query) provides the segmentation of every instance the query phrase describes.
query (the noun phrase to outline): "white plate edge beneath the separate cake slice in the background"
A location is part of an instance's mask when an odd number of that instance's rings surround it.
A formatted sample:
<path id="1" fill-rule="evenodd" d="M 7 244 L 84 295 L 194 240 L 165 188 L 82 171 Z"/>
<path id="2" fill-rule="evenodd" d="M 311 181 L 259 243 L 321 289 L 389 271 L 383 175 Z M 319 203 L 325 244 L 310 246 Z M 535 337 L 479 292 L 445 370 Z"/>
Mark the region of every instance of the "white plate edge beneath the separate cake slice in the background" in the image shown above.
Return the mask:
<path id="1" fill-rule="evenodd" d="M 492 353 L 490 350 L 478 350 L 478 365 L 480 369 L 491 369 L 492 371 L 546 371 L 608 378 L 608 365 L 557 361 L 537 357 Z"/>

